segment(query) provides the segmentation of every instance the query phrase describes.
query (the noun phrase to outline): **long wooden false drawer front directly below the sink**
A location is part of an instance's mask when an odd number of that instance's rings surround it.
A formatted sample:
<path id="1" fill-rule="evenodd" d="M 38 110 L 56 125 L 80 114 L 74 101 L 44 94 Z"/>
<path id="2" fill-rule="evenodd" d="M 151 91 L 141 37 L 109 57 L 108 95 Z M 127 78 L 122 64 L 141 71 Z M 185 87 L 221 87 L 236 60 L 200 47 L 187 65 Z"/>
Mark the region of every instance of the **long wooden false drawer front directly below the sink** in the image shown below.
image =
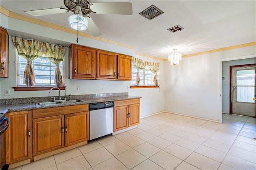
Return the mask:
<path id="1" fill-rule="evenodd" d="M 52 107 L 46 109 L 35 109 L 32 110 L 32 119 L 38 119 L 43 117 L 51 117 L 58 115 L 66 115 L 78 112 L 89 111 L 89 105 L 74 105 L 74 106 L 62 106 L 62 107 Z"/>

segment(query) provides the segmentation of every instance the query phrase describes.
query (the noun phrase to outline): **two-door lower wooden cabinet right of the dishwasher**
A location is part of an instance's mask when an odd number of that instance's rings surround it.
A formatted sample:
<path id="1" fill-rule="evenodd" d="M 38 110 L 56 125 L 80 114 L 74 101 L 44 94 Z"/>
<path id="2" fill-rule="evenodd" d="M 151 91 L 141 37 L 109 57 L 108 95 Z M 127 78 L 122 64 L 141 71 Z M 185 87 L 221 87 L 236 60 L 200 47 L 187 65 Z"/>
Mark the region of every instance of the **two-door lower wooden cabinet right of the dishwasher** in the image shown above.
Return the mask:
<path id="1" fill-rule="evenodd" d="M 114 132 L 140 123 L 140 99 L 114 102 Z"/>

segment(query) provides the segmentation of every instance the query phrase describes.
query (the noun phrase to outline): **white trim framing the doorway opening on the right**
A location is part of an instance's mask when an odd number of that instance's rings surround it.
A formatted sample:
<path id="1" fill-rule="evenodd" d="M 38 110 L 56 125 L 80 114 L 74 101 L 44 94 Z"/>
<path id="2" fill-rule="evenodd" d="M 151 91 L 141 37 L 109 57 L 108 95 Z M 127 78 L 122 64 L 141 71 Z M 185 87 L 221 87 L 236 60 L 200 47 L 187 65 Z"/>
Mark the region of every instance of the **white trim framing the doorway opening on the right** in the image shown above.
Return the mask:
<path id="1" fill-rule="evenodd" d="M 218 97 L 218 123 L 222 123 L 222 62 L 223 61 L 232 61 L 237 59 L 246 59 L 246 58 L 255 58 L 256 55 L 243 55 L 238 57 L 218 59 L 218 87 L 219 87 L 219 97 Z"/>

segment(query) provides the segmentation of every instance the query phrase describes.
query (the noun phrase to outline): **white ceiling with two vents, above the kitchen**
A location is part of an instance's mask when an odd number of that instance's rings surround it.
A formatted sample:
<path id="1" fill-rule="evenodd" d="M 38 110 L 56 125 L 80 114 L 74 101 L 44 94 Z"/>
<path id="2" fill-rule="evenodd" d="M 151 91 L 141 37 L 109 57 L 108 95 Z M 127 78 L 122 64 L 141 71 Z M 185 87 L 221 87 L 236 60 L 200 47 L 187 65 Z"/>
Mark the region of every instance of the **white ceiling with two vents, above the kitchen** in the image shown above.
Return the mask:
<path id="1" fill-rule="evenodd" d="M 102 38 L 136 47 L 136 52 L 168 58 L 177 48 L 182 55 L 256 42 L 256 1 L 173 1 L 173 0 L 91 0 L 90 2 L 131 2 L 132 15 L 89 14 Z M 148 20 L 140 12 L 154 4 L 164 14 Z M 63 0 L 1 0 L 5 9 L 30 16 L 24 11 L 64 6 Z M 33 17 L 70 28 L 72 12 Z M 168 28 L 180 25 L 182 31 Z M 84 32 L 90 34 L 87 30 Z"/>

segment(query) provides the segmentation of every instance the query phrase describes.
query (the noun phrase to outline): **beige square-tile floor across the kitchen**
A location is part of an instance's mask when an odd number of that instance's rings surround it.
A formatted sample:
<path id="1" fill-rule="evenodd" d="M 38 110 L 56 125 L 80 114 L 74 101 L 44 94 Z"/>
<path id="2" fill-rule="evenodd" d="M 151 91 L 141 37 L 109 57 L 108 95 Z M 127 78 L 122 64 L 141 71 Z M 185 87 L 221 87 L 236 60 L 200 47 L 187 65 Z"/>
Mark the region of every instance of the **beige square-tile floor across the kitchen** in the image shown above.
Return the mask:
<path id="1" fill-rule="evenodd" d="M 223 114 L 220 124 L 160 113 L 138 128 L 14 169 L 255 170 L 255 137 L 255 118 Z"/>

